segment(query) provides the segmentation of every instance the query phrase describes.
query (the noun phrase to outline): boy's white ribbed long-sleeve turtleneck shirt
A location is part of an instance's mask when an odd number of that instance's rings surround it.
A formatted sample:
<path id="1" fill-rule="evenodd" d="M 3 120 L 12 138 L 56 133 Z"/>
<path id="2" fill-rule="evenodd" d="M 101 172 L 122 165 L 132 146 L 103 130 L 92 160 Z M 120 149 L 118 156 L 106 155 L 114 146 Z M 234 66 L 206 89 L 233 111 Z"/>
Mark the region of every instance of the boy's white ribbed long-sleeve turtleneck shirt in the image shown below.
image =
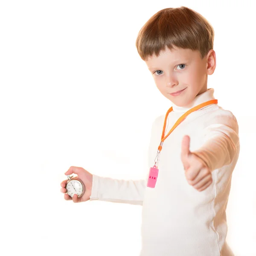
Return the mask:
<path id="1" fill-rule="evenodd" d="M 172 105 L 165 136 L 189 109 L 215 99 L 214 89 L 195 97 L 186 107 Z M 117 180 L 93 175 L 91 200 L 142 205 L 140 256 L 233 256 L 227 245 L 226 207 L 231 177 L 239 151 L 239 126 L 232 112 L 212 104 L 190 113 L 164 140 L 155 188 L 147 187 L 154 165 L 166 113 L 151 130 L 148 172 L 143 180 Z M 181 162 L 181 142 L 190 137 L 190 151 L 212 172 L 212 183 L 197 191 L 186 180 Z"/>

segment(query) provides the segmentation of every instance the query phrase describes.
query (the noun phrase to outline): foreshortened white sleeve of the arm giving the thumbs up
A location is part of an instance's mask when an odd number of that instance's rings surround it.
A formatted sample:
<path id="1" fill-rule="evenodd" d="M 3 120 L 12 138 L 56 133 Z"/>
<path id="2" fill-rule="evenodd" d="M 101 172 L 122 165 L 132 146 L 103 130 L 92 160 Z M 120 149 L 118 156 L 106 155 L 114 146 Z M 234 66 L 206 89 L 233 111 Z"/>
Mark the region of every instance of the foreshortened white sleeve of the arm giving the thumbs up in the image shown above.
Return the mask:
<path id="1" fill-rule="evenodd" d="M 204 145 L 192 151 L 200 157 L 212 172 L 229 165 L 237 153 L 239 126 L 230 111 L 218 109 L 209 114 L 204 128 Z"/>

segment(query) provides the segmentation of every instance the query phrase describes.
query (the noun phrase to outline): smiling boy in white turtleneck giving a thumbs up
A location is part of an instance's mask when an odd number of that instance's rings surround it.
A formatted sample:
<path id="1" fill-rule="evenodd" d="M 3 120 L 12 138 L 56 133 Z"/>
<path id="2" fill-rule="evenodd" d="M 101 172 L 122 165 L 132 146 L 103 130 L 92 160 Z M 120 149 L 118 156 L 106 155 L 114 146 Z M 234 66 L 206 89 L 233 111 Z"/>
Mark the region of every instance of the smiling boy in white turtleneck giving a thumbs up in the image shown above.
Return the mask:
<path id="1" fill-rule="evenodd" d="M 158 174 L 117 180 L 73 166 L 65 173 L 78 174 L 87 187 L 74 202 L 90 198 L 143 206 L 140 256 L 233 255 L 225 241 L 226 207 L 239 127 L 233 113 L 218 106 L 214 89 L 207 89 L 216 66 L 213 40 L 208 21 L 184 6 L 160 10 L 138 34 L 140 57 L 173 103 L 152 125 L 148 168 L 155 164 Z M 65 199 L 72 198 L 65 194 Z"/>

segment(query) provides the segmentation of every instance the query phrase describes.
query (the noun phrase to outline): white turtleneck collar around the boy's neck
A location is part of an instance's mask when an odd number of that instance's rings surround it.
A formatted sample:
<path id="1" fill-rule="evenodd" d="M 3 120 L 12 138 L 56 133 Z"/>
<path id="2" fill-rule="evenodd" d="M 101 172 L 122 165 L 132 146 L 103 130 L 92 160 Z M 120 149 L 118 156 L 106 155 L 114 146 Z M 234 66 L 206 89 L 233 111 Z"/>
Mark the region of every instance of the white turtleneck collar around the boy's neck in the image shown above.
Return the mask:
<path id="1" fill-rule="evenodd" d="M 172 110 L 173 112 L 187 112 L 189 111 L 189 109 L 194 108 L 195 106 L 207 102 L 209 100 L 215 99 L 213 96 L 214 93 L 214 89 L 213 88 L 209 88 L 207 89 L 207 91 L 205 91 L 204 93 L 199 94 L 198 96 L 195 96 L 195 99 L 193 99 L 193 101 L 183 107 L 179 107 L 177 105 L 175 105 L 174 103 L 172 104 Z"/>

